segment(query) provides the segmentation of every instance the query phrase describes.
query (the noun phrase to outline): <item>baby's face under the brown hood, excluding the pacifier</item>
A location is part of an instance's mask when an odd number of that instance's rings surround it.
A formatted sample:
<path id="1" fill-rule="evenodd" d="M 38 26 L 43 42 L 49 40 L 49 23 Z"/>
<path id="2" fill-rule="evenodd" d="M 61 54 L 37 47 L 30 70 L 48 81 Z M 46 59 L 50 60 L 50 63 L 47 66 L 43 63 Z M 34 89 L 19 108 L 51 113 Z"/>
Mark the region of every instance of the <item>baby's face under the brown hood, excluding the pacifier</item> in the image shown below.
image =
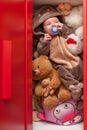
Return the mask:
<path id="1" fill-rule="evenodd" d="M 58 29 L 62 30 L 63 23 L 61 23 L 57 17 L 51 17 L 51 18 L 47 19 L 43 23 L 44 32 L 51 34 L 50 29 L 51 29 L 51 27 L 54 27 L 54 26 L 57 27 Z"/>

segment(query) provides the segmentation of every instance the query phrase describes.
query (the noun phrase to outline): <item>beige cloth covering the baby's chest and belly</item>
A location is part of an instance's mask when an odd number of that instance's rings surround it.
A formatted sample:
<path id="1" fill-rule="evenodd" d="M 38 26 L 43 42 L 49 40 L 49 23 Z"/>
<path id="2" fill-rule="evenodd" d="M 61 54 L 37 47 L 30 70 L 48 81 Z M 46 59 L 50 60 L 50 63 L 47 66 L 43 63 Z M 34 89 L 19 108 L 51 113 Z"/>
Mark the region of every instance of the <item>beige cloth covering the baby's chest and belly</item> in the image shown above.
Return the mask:
<path id="1" fill-rule="evenodd" d="M 79 57 L 70 53 L 65 38 L 56 36 L 50 43 L 50 59 L 66 68 L 74 68 L 79 64 Z"/>

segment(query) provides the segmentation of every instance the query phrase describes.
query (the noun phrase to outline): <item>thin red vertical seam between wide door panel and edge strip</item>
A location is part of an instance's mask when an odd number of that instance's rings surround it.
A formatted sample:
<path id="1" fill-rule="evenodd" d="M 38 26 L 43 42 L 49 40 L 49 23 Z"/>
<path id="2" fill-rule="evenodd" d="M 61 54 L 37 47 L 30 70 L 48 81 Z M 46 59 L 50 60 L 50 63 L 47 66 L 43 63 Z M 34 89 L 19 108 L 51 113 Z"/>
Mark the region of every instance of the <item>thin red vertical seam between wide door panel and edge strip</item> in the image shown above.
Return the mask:
<path id="1" fill-rule="evenodd" d="M 32 43 L 31 43 L 32 44 Z M 25 97 L 25 130 L 27 130 L 27 104 L 28 104 L 28 96 L 27 96 L 27 90 L 28 90 L 28 72 L 27 72 L 27 0 L 25 0 L 25 18 L 24 18 L 24 97 Z"/>

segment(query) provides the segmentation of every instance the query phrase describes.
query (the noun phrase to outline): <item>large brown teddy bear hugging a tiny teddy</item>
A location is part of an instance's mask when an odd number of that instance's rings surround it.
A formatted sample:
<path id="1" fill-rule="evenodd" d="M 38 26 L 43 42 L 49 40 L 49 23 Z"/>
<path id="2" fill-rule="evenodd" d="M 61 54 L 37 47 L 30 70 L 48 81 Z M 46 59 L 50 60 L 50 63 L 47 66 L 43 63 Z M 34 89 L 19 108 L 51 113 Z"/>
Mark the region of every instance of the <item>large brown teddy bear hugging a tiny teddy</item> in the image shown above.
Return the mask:
<path id="1" fill-rule="evenodd" d="M 32 61 L 33 81 L 36 82 L 34 92 L 41 97 L 45 106 L 52 109 L 58 101 L 71 98 L 69 90 L 61 83 L 58 72 L 53 68 L 47 56 L 41 55 Z"/>

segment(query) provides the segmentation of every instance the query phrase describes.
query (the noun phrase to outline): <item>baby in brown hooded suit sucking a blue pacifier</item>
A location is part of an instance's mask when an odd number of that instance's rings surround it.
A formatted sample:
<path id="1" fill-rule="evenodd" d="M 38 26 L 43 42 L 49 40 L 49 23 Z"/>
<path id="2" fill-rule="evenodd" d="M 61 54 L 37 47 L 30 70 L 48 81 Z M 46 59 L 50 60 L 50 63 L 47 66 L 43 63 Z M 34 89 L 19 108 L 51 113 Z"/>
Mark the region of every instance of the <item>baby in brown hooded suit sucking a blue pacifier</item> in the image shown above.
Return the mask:
<path id="1" fill-rule="evenodd" d="M 49 56 L 61 81 L 71 91 L 72 98 L 79 100 L 83 88 L 82 61 L 78 53 L 72 54 L 69 50 L 68 44 L 75 47 L 78 42 L 66 39 L 71 29 L 64 25 L 62 14 L 53 7 L 43 6 L 34 15 L 33 30 L 35 35 L 42 35 L 37 45 L 39 54 Z"/>

